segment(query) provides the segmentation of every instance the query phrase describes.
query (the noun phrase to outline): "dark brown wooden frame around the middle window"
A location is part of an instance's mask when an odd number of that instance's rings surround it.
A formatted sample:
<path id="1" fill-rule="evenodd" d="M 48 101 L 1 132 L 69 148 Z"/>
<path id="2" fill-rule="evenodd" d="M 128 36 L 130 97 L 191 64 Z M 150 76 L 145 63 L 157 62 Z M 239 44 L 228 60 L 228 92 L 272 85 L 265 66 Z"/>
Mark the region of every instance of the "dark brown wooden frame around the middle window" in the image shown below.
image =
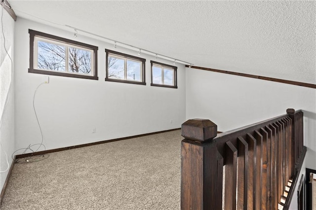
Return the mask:
<path id="1" fill-rule="evenodd" d="M 146 59 L 139 58 L 139 57 L 132 56 L 132 55 L 128 55 L 128 54 L 124 54 L 124 53 L 120 53 L 120 52 L 109 50 L 109 49 L 105 49 L 105 53 L 106 53 L 106 70 L 105 70 L 106 77 L 105 77 L 105 81 L 122 82 L 122 83 L 137 84 L 137 85 L 146 85 L 146 74 L 145 74 L 145 72 L 146 72 L 146 68 L 145 68 Z M 133 80 L 109 78 L 109 70 L 108 70 L 109 69 L 109 53 L 112 55 L 124 57 L 126 59 L 132 59 L 132 60 L 136 60 L 136 61 L 141 62 L 142 63 L 142 76 L 141 76 L 142 81 L 138 82 L 138 81 L 133 81 Z"/>

